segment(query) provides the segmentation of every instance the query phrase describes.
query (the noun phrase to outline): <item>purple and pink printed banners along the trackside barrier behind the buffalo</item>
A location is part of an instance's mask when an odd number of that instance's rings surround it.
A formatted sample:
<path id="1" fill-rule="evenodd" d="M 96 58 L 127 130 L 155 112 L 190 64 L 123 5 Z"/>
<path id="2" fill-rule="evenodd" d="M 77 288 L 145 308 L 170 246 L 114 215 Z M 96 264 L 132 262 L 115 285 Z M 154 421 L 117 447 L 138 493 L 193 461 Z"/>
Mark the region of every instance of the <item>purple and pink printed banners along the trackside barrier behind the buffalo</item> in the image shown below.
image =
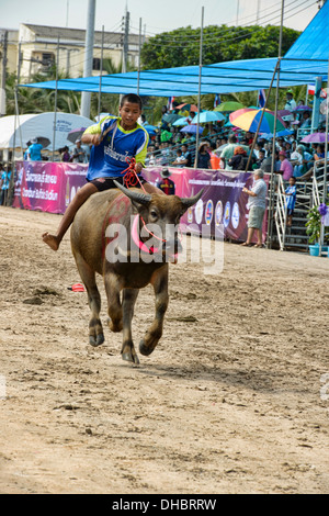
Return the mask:
<path id="1" fill-rule="evenodd" d="M 86 183 L 88 165 L 18 161 L 18 181 L 13 206 L 63 214 L 76 192 Z M 242 188 L 251 188 L 251 172 L 169 168 L 175 183 L 175 193 L 182 198 L 195 195 L 202 188 L 202 199 L 182 217 L 195 233 L 208 227 L 211 235 L 219 226 L 224 237 L 246 240 L 249 211 L 248 195 Z M 148 167 L 143 176 L 155 183 L 160 178 L 161 167 Z M 269 182 L 269 177 L 264 178 Z M 263 239 L 266 236 L 266 216 L 263 221 Z"/>

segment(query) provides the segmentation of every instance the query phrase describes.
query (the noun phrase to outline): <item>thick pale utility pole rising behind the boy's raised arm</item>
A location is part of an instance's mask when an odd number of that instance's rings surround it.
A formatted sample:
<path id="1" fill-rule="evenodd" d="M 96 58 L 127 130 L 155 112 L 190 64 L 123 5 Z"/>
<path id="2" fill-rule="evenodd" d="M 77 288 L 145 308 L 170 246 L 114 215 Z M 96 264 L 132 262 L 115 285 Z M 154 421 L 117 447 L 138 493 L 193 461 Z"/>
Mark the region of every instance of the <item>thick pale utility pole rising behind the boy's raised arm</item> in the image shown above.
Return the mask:
<path id="1" fill-rule="evenodd" d="M 92 75 L 94 18 L 95 18 L 95 0 L 88 0 L 83 77 L 90 77 Z M 86 116 L 87 119 L 90 117 L 90 99 L 91 99 L 91 93 L 89 93 L 88 91 L 82 91 L 80 111 L 81 111 L 81 115 Z"/>

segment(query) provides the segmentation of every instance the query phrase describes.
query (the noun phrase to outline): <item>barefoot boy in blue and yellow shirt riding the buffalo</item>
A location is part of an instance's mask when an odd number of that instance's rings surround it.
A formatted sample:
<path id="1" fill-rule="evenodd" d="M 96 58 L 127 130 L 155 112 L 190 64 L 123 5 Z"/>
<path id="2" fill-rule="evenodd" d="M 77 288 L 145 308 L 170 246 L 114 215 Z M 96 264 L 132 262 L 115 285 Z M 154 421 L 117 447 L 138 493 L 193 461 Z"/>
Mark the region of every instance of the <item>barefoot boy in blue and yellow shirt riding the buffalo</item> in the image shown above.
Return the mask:
<path id="1" fill-rule="evenodd" d="M 90 165 L 84 184 L 68 205 L 57 233 L 43 234 L 43 240 L 52 249 L 57 250 L 67 229 L 73 222 L 79 207 L 95 192 L 116 188 L 113 179 L 123 183 L 124 172 L 129 162 L 135 158 L 135 171 L 145 190 L 148 193 L 159 190 L 147 183 L 140 172 L 144 167 L 149 136 L 147 131 L 137 123 L 141 114 L 141 100 L 131 93 L 122 98 L 120 116 L 106 116 L 99 124 L 91 125 L 82 135 L 82 143 L 93 145 L 90 156 Z M 139 187 L 139 183 L 136 184 Z"/>

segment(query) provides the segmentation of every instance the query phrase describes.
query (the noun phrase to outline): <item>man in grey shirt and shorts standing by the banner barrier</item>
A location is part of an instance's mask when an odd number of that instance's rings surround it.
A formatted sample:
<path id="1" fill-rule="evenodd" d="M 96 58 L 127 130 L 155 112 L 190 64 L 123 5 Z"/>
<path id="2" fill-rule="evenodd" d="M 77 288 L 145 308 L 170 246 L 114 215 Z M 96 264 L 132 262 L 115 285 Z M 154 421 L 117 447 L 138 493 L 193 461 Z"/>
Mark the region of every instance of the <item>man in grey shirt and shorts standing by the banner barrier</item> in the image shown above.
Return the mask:
<path id="1" fill-rule="evenodd" d="M 254 231 L 257 232 L 256 247 L 262 247 L 262 225 L 266 209 L 268 187 L 263 180 L 264 172 L 261 169 L 254 170 L 254 183 L 251 190 L 243 188 L 242 192 L 249 195 L 247 207 L 249 207 L 248 235 L 242 246 L 251 247 Z"/>

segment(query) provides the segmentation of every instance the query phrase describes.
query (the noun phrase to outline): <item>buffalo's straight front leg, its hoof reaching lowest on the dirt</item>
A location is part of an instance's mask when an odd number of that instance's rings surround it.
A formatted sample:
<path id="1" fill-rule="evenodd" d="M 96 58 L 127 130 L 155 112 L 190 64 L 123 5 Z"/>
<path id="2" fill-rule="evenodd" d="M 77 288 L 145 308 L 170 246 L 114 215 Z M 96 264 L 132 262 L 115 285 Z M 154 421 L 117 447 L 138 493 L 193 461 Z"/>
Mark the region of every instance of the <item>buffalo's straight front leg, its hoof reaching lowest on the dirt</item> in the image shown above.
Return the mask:
<path id="1" fill-rule="evenodd" d="M 132 321 L 134 316 L 134 306 L 138 295 L 138 289 L 124 289 L 123 291 L 123 345 L 122 345 L 122 358 L 128 362 L 139 363 L 137 354 L 134 348 L 133 335 L 132 335 Z"/>

